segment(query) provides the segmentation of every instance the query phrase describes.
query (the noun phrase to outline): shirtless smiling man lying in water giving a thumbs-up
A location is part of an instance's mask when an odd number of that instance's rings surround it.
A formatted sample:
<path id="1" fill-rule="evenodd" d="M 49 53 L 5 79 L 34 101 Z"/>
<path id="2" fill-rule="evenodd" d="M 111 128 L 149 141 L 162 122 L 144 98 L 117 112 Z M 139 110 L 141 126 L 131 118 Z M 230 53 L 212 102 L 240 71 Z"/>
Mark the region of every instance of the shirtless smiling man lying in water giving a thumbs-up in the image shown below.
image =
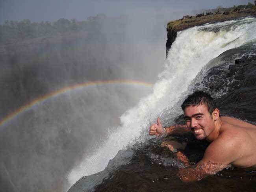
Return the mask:
<path id="1" fill-rule="evenodd" d="M 177 174 L 182 181 L 199 181 L 207 175 L 216 174 L 229 164 L 241 168 L 256 168 L 256 126 L 220 116 L 213 98 L 203 91 L 189 95 L 181 108 L 186 125 L 164 128 L 158 118 L 157 124 L 150 126 L 149 134 L 170 135 L 175 129 L 184 129 L 191 131 L 198 140 L 206 139 L 210 142 L 204 157 L 195 166 L 190 166 L 184 153 L 176 153 L 178 160 L 187 167 Z M 175 150 L 174 145 L 168 142 L 162 144 L 172 151 Z"/>

